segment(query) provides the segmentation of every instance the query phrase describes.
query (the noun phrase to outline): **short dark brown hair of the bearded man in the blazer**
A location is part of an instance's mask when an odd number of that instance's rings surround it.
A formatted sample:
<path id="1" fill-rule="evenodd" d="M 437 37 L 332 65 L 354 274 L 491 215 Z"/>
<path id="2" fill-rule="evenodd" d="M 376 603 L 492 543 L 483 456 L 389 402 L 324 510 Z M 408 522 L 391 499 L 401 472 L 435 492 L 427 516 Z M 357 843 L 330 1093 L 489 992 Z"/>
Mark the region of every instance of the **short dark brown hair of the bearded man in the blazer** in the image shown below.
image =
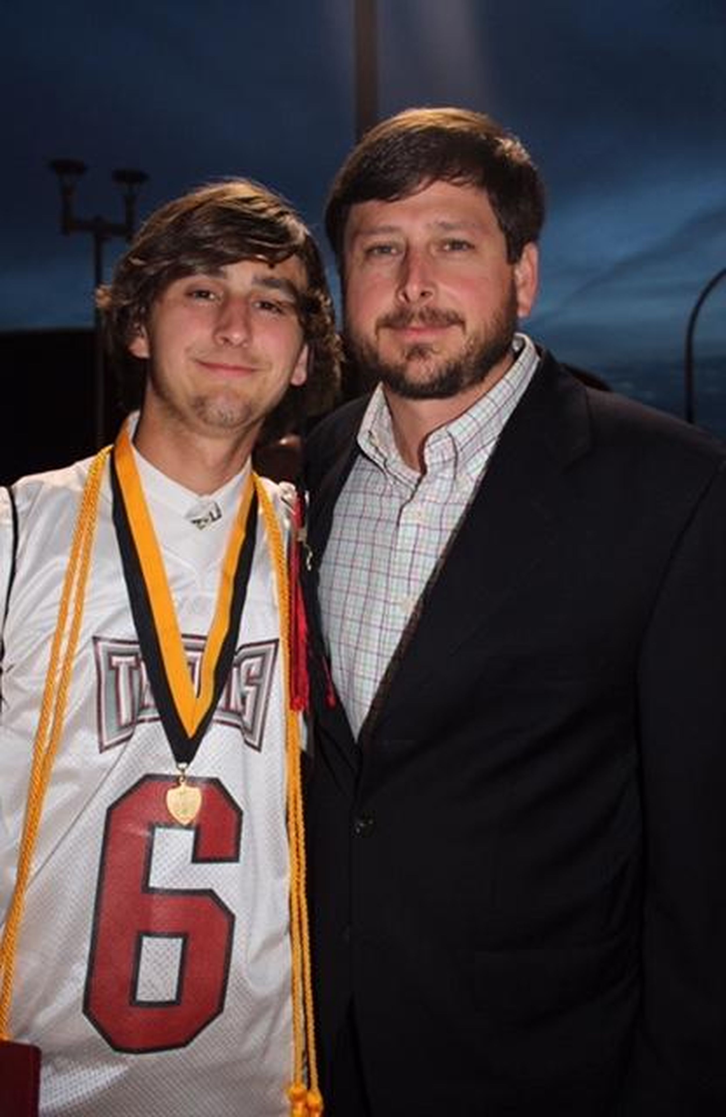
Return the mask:
<path id="1" fill-rule="evenodd" d="M 407 198 L 439 180 L 486 191 L 510 264 L 519 259 L 526 244 L 537 240 L 544 221 L 544 187 L 516 136 L 484 113 L 409 108 L 371 128 L 333 182 L 325 228 L 338 267 L 352 206 Z"/>

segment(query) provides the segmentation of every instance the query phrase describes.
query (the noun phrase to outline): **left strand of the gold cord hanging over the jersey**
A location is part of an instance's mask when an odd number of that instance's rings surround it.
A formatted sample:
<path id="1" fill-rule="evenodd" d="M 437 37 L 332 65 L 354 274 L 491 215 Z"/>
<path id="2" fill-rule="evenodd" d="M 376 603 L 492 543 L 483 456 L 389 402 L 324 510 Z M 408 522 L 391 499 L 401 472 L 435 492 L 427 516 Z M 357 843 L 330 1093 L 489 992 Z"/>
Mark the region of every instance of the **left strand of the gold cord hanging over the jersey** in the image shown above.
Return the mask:
<path id="1" fill-rule="evenodd" d="M 111 447 L 101 450 L 90 462 L 80 498 L 68 566 L 63 585 L 56 631 L 50 647 L 46 685 L 40 704 L 40 718 L 32 752 L 26 814 L 20 838 L 16 886 L 8 908 L 0 943 L 0 1039 L 9 1039 L 10 1004 L 15 977 L 18 932 L 22 919 L 26 892 L 38 839 L 40 815 L 50 782 L 52 763 L 58 751 L 68 700 L 76 645 L 80 632 L 83 609 L 96 528 L 98 495 L 104 466 Z M 65 650 L 64 650 L 65 645 Z"/>

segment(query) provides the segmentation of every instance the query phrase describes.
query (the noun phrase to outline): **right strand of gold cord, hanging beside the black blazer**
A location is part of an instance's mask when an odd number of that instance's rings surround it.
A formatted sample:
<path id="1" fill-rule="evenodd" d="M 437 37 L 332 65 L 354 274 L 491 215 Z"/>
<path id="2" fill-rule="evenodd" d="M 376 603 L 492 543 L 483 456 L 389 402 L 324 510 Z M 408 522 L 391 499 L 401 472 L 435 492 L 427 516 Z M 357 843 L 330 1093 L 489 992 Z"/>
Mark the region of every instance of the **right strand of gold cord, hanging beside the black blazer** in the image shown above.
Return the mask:
<path id="1" fill-rule="evenodd" d="M 283 685 L 286 704 L 287 746 L 287 831 L 290 858 L 290 941 L 293 955 L 293 1083 L 288 1090 L 290 1117 L 317 1117 L 323 1113 L 318 1088 L 315 1050 L 315 1018 L 311 963 L 307 896 L 305 891 L 305 827 L 303 820 L 303 782 L 300 774 L 299 714 L 290 700 L 290 583 L 283 536 L 270 499 L 259 478 L 255 477 L 257 497 L 265 522 L 277 582 L 283 649 Z M 293 540 L 293 546 L 297 541 Z M 307 1043 L 309 1088 L 305 1086 L 304 1059 Z"/>

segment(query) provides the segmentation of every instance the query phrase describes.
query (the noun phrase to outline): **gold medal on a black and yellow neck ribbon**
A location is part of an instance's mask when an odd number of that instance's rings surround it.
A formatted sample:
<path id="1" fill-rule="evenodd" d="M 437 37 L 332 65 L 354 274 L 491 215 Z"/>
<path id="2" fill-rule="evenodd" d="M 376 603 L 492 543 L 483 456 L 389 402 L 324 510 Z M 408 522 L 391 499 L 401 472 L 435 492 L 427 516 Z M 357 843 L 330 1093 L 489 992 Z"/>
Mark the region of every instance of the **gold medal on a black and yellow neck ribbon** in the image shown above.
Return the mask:
<path id="1" fill-rule="evenodd" d="M 187 782 L 187 768 L 229 678 L 252 566 L 258 504 L 255 481 L 250 475 L 230 533 L 214 617 L 201 660 L 199 694 L 184 655 L 164 562 L 126 428 L 114 446 L 111 484 L 114 526 L 136 634 L 180 773 L 176 786 L 168 792 L 166 804 L 172 817 L 188 825 L 201 806 L 201 790 Z"/>

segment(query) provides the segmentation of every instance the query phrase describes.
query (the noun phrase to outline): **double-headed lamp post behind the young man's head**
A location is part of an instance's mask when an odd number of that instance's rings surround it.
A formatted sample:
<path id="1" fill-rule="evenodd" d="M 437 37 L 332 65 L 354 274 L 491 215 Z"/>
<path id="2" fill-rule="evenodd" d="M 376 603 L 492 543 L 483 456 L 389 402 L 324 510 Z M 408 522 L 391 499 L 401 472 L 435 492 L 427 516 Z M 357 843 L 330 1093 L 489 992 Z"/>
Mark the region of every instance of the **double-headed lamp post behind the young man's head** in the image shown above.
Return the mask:
<path id="1" fill-rule="evenodd" d="M 94 290 L 104 280 L 103 249 L 107 240 L 123 237 L 131 240 L 136 223 L 136 198 L 149 175 L 144 171 L 121 168 L 113 172 L 112 178 L 123 190 L 124 220 L 108 221 L 96 214 L 92 218 L 79 218 L 74 212 L 74 197 L 78 180 L 86 173 L 86 164 L 77 159 L 54 159 L 50 170 L 58 175 L 60 187 L 60 231 L 64 236 L 71 232 L 89 232 L 94 242 Z M 94 438 L 96 448 L 106 440 L 105 431 L 106 393 L 105 361 L 101 315 L 94 305 Z"/>

